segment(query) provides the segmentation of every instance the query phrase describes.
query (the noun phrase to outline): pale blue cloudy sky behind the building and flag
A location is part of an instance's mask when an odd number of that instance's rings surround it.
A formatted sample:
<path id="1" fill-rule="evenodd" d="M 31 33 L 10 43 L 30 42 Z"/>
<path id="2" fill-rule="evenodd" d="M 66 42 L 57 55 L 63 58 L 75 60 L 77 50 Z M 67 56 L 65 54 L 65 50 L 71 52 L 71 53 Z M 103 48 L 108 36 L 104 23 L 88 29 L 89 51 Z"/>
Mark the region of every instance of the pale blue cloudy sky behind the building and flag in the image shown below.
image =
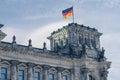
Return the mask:
<path id="1" fill-rule="evenodd" d="M 120 79 L 120 0 L 0 0 L 0 23 L 7 36 L 3 41 L 42 48 L 53 30 L 72 22 L 63 19 L 62 10 L 74 6 L 75 22 L 102 32 L 101 47 L 112 62 L 108 80 Z"/>

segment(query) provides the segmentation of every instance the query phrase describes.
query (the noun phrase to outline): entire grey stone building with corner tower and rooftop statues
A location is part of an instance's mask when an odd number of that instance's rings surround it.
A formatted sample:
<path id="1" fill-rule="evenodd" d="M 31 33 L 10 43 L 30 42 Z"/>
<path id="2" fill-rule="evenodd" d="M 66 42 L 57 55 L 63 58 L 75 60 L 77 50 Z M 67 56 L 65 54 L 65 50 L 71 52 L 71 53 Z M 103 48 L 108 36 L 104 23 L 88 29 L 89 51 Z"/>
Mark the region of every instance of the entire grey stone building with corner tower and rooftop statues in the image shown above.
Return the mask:
<path id="1" fill-rule="evenodd" d="M 46 43 L 34 48 L 31 40 L 28 46 L 19 45 L 15 36 L 12 43 L 3 42 L 6 34 L 0 31 L 0 80 L 107 80 L 111 62 L 100 48 L 101 35 L 70 23 L 51 33 L 47 50 Z"/>

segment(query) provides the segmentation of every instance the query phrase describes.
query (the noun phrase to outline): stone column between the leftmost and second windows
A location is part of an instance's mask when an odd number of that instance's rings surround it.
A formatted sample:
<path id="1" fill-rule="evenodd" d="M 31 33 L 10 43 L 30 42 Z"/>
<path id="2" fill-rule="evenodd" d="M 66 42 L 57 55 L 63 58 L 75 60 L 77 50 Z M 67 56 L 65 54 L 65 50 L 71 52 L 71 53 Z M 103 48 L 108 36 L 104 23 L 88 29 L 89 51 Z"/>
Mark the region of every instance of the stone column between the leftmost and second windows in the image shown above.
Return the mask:
<path id="1" fill-rule="evenodd" d="M 18 65 L 18 61 L 13 60 L 11 61 L 11 80 L 17 80 L 17 70 L 16 70 L 16 66 Z"/>

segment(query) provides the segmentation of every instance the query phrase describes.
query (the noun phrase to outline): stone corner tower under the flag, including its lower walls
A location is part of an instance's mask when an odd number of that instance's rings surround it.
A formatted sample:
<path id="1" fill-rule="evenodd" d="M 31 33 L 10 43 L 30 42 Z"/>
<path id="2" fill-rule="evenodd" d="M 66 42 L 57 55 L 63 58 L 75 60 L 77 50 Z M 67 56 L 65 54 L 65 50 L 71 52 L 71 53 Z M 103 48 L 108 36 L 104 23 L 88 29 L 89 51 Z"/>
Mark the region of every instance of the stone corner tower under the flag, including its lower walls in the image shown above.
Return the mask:
<path id="1" fill-rule="evenodd" d="M 107 70 L 111 62 L 106 61 L 105 50 L 100 48 L 101 35 L 95 28 L 70 23 L 51 33 L 48 39 L 51 51 L 80 60 L 76 64 L 81 66 L 81 77 L 75 80 L 107 80 Z M 77 71 L 75 75 L 77 76 Z"/>

